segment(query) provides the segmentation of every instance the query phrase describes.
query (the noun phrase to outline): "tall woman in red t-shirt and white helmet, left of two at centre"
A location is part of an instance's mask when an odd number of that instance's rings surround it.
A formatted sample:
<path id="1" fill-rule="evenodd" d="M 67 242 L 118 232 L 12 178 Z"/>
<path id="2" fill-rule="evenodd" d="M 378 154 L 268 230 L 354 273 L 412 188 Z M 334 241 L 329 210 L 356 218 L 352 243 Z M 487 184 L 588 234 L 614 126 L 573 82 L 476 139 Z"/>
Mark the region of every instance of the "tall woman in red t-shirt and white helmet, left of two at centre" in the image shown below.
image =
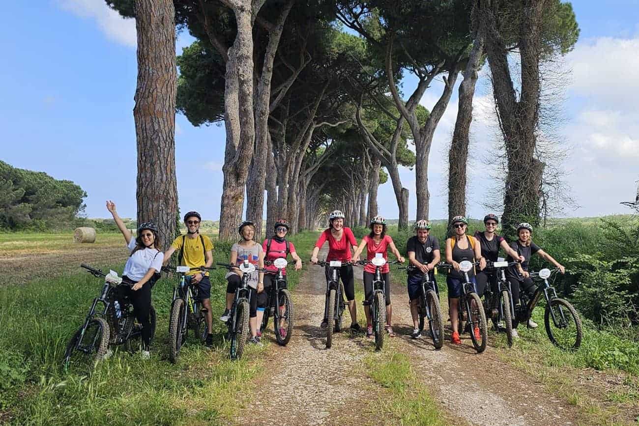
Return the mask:
<path id="1" fill-rule="evenodd" d="M 328 241 L 328 255 L 327 261 L 342 261 L 347 262 L 351 260 L 351 247 L 357 246 L 357 240 L 353 235 L 353 231 L 350 228 L 344 227 L 344 213 L 340 210 L 335 210 L 328 216 L 328 229 L 319 235 L 313 253 L 311 255 L 311 262 L 318 262 L 319 249 Z M 348 310 L 351 314 L 351 330 L 361 331 L 359 324 L 357 324 L 357 307 L 355 306 L 355 279 L 353 277 L 353 266 L 342 266 L 339 269 L 339 277 L 344 284 L 344 293 L 346 293 L 346 300 L 348 300 Z M 328 280 L 330 279 L 330 266 L 326 267 L 326 301 L 324 303 L 324 319 L 321 322 L 321 328 L 328 326 Z"/>

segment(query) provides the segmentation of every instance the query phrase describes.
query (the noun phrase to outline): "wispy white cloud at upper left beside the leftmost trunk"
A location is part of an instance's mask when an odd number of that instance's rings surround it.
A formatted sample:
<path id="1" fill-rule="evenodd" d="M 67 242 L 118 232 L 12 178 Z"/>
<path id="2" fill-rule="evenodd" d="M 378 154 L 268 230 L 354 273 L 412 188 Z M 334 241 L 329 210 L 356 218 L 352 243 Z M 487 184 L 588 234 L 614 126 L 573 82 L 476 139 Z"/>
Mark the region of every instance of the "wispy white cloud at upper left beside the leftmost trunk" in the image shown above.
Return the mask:
<path id="1" fill-rule="evenodd" d="M 137 45 L 135 19 L 124 19 L 104 0 L 58 0 L 58 3 L 79 17 L 95 20 L 111 40 L 130 47 Z"/>

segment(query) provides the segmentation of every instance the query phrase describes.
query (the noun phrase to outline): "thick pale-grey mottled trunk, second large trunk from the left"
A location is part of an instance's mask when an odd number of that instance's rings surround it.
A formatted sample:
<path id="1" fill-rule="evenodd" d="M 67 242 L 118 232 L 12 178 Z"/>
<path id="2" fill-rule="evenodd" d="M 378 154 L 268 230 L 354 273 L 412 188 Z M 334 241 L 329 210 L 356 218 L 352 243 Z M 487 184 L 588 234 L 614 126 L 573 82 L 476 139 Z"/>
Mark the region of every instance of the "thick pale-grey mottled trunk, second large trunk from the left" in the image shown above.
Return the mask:
<path id="1" fill-rule="evenodd" d="M 253 23 L 264 0 L 227 0 L 235 13 L 237 35 L 229 49 L 224 86 L 224 181 L 220 206 L 220 240 L 235 238 L 242 220 L 244 188 L 255 143 L 253 98 Z"/>

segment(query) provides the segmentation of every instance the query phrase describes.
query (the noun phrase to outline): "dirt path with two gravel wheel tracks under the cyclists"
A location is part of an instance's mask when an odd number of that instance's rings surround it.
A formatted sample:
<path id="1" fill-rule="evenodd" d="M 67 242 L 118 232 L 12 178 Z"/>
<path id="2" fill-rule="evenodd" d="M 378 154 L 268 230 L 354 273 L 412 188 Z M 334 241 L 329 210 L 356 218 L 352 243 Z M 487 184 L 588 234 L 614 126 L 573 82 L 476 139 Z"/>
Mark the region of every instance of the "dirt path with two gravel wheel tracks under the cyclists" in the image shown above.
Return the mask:
<path id="1" fill-rule="evenodd" d="M 379 389 L 361 367 L 362 359 L 369 354 L 365 349 L 370 349 L 372 342 L 363 335 L 340 333 L 332 349 L 325 349 L 325 331 L 319 328 L 324 273 L 318 266 L 308 268 L 293 292 L 295 336 L 288 347 L 273 344 L 266 351 L 265 374 L 259 377 L 256 395 L 247 402 L 237 423 L 367 423 L 362 418 L 362 401 L 370 400 L 375 388 Z M 361 268 L 355 268 L 355 277 L 355 285 L 361 286 Z M 488 347 L 483 354 L 476 354 L 467 337 L 461 346 L 453 346 L 447 340 L 440 351 L 435 351 L 426 337 L 410 339 L 412 320 L 403 284 L 393 286 L 392 300 L 397 337 L 388 339 L 388 344 L 410 357 L 424 386 L 450 413 L 473 425 L 590 423 L 586 413 L 547 393 L 542 384 L 499 360 L 497 349 Z M 444 310 L 445 305 L 442 300 Z M 348 313 L 344 315 L 348 324 Z"/>

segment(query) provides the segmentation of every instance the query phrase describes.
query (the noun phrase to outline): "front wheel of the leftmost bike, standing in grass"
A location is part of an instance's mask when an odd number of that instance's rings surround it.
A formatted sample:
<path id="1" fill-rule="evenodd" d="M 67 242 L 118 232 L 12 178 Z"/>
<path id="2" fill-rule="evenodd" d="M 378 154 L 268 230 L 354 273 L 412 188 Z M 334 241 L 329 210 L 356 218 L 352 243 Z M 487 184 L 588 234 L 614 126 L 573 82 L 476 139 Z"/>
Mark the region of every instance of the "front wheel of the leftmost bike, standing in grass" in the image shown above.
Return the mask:
<path id="1" fill-rule="evenodd" d="M 84 330 L 84 333 L 82 331 Z M 89 321 L 86 328 L 81 327 L 66 344 L 63 367 L 68 369 L 82 360 L 98 362 L 109 349 L 109 324 L 102 318 Z"/>

